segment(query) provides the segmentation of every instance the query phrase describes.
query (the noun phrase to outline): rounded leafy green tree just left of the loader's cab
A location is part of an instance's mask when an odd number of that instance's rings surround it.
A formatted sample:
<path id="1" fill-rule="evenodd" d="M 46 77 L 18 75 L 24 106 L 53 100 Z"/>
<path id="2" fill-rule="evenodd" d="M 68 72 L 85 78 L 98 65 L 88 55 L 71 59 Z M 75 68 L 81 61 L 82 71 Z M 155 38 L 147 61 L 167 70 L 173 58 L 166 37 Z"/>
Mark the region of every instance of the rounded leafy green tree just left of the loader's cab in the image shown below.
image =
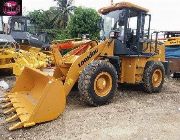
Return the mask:
<path id="1" fill-rule="evenodd" d="M 78 7 L 68 24 L 68 30 L 72 37 L 79 37 L 82 34 L 89 34 L 91 39 L 99 37 L 98 28 L 99 14 L 94 9 Z"/>

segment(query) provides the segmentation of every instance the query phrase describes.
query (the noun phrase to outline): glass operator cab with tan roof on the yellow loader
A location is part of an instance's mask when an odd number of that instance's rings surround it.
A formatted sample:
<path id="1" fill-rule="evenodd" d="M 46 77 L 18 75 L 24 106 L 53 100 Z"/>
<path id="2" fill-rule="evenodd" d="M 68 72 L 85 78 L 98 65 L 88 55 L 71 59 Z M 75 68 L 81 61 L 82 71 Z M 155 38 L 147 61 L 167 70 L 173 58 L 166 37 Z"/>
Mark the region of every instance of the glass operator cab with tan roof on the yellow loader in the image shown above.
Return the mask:
<path id="1" fill-rule="evenodd" d="M 142 55 L 143 43 L 150 34 L 148 10 L 129 2 L 117 3 L 99 10 L 102 14 L 102 38 L 115 40 L 115 55 Z"/>

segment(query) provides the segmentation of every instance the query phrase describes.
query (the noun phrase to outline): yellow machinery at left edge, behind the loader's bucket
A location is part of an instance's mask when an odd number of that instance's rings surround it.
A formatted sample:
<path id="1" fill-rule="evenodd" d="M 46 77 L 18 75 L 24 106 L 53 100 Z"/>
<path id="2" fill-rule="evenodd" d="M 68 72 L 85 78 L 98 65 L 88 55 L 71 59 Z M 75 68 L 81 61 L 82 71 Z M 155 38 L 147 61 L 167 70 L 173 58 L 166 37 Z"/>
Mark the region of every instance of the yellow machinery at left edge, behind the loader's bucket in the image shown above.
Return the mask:
<path id="1" fill-rule="evenodd" d="M 18 76 L 25 66 L 44 68 L 48 64 L 45 54 L 32 50 L 21 50 L 20 46 L 10 35 L 0 34 L 0 70 L 12 70 Z"/>

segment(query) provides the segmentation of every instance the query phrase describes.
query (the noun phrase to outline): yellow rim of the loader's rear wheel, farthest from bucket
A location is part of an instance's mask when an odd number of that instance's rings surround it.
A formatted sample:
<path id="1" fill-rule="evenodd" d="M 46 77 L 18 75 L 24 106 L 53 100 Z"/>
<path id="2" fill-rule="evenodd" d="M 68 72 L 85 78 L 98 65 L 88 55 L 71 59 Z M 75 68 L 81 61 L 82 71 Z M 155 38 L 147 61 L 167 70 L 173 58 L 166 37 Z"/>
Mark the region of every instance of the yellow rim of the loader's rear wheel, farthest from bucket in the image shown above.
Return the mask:
<path id="1" fill-rule="evenodd" d="M 154 87 L 159 87 L 162 81 L 162 71 L 157 69 L 154 71 L 152 76 L 152 84 Z"/>

